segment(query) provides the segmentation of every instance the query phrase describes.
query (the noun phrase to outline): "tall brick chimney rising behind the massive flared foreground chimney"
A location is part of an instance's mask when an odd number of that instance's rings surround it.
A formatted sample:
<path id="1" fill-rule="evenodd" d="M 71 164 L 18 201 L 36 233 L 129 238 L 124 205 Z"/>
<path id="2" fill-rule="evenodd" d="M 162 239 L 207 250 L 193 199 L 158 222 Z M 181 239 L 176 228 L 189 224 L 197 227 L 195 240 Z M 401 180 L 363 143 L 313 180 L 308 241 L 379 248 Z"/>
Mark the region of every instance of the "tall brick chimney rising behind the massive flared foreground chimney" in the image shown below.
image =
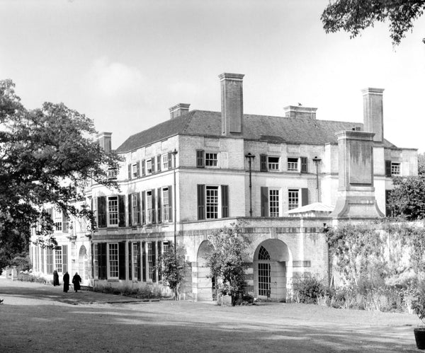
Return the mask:
<path id="1" fill-rule="evenodd" d="M 384 139 L 384 111 L 382 105 L 382 88 L 364 88 L 363 93 L 363 123 L 365 132 L 373 132 L 373 141 Z"/>

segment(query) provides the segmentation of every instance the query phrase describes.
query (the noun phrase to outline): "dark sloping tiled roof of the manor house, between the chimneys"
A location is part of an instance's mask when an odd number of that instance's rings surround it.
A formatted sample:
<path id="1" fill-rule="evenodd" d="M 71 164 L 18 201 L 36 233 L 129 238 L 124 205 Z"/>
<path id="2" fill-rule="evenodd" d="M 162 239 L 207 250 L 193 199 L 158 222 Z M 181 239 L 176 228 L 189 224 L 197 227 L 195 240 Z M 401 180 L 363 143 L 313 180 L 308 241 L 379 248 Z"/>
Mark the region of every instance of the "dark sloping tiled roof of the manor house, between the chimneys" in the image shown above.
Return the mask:
<path id="1" fill-rule="evenodd" d="M 363 128 L 360 122 L 337 122 L 301 117 L 271 117 L 265 115 L 244 115 L 243 133 L 240 138 L 288 144 L 336 143 L 336 132 Z M 150 129 L 130 136 L 118 153 L 125 153 L 161 141 L 176 134 L 221 137 L 221 112 L 192 110 Z M 387 140 L 384 146 L 395 148 Z"/>

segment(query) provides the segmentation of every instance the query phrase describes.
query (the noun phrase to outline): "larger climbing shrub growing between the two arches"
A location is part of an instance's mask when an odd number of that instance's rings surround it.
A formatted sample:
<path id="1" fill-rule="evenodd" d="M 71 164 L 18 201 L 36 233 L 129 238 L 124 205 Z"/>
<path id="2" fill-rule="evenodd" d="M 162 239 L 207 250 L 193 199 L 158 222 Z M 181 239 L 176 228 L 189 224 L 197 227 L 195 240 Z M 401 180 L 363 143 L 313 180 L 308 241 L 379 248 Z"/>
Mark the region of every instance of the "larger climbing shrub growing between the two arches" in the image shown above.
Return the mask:
<path id="1" fill-rule="evenodd" d="M 215 231 L 208 236 L 208 241 L 212 248 L 206 255 L 206 265 L 210 267 L 211 276 L 218 279 L 217 290 L 232 296 L 234 305 L 239 296 L 245 294 L 244 257 L 249 240 L 237 224 L 232 224 Z"/>

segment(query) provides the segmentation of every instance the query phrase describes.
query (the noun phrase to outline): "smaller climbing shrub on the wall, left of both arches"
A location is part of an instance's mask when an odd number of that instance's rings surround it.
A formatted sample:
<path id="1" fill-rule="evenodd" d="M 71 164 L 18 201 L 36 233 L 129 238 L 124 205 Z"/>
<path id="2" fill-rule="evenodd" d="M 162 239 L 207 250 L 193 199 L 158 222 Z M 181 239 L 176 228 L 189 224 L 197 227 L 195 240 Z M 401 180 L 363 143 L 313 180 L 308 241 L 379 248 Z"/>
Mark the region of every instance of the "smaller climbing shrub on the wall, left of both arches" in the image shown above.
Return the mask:
<path id="1" fill-rule="evenodd" d="M 179 299 L 180 284 L 184 279 L 185 250 L 182 247 L 170 246 L 159 257 L 158 271 L 162 275 L 162 283 L 173 291 L 174 299 Z"/>

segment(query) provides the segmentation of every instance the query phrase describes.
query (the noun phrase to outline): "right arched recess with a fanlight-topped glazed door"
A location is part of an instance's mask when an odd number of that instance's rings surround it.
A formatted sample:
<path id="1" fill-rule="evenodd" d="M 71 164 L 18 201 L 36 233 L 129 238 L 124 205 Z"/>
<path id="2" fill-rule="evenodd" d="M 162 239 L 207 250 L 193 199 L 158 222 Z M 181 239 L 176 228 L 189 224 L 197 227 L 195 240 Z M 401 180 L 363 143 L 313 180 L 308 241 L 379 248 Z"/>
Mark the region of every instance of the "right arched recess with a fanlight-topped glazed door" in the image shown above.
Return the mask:
<path id="1" fill-rule="evenodd" d="M 254 252 L 254 296 L 285 301 L 292 257 L 288 246 L 278 239 L 260 243 Z"/>

